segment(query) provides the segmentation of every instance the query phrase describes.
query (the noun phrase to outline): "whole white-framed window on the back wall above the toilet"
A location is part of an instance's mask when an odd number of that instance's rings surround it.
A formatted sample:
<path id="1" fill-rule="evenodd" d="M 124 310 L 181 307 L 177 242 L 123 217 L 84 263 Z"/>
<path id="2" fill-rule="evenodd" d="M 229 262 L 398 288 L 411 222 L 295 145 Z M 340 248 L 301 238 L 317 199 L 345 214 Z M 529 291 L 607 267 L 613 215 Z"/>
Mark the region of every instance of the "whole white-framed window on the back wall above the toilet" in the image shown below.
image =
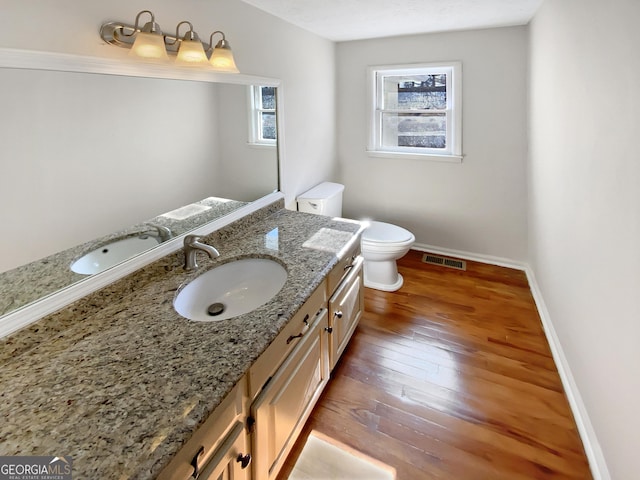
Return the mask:
<path id="1" fill-rule="evenodd" d="M 370 69 L 369 152 L 462 158 L 460 64 Z"/>

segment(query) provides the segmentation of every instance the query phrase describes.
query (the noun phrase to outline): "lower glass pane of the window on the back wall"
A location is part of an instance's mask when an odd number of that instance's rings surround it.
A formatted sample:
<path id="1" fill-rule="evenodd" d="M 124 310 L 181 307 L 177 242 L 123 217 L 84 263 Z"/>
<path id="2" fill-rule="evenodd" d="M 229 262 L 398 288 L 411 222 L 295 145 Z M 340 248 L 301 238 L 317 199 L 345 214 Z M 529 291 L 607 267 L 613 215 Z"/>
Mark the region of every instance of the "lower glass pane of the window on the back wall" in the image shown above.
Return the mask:
<path id="1" fill-rule="evenodd" d="M 447 118 L 443 113 L 383 113 L 382 145 L 446 148 Z"/>

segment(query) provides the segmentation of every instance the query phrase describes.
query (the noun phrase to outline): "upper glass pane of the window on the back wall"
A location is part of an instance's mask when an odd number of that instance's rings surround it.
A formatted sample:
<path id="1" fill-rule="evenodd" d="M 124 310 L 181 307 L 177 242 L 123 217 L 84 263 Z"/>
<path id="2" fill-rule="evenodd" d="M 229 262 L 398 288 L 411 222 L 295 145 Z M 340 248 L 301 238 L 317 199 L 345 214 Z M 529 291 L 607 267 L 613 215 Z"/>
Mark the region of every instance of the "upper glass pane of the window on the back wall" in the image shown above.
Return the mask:
<path id="1" fill-rule="evenodd" d="M 447 75 L 389 75 L 383 77 L 383 108 L 445 110 Z"/>

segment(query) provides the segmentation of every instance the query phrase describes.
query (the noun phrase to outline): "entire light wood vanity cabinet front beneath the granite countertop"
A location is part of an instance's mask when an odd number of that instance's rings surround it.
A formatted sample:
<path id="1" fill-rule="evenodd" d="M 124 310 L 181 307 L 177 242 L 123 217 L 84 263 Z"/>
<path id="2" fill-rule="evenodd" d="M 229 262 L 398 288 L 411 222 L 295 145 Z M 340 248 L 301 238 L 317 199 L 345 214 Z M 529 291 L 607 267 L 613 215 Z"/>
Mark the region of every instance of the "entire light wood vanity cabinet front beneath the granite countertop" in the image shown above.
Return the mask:
<path id="1" fill-rule="evenodd" d="M 362 285 L 360 243 L 350 242 L 159 478 L 276 478 L 358 324 Z"/>

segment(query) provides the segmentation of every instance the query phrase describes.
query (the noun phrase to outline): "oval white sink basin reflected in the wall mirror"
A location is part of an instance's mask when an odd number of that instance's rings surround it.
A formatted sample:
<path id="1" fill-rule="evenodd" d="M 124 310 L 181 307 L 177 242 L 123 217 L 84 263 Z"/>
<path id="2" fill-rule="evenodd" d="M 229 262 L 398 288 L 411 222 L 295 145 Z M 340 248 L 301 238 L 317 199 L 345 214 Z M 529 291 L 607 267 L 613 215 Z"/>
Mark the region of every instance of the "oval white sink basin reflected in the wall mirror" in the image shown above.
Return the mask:
<path id="1" fill-rule="evenodd" d="M 159 238 L 153 235 L 114 240 L 80 257 L 71 264 L 71 270 L 83 275 L 100 273 L 139 253 L 146 252 L 158 243 L 160 243 Z"/>

